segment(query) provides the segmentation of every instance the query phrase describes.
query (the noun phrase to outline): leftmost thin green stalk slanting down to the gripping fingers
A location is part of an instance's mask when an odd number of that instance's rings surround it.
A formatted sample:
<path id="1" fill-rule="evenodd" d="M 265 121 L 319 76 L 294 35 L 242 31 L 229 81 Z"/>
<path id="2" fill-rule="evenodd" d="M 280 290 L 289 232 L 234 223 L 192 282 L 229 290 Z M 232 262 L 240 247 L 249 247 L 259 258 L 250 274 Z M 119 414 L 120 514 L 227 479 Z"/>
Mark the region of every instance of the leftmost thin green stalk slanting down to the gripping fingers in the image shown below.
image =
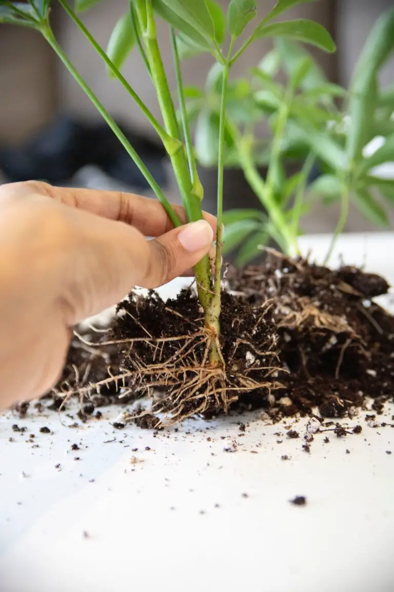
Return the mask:
<path id="1" fill-rule="evenodd" d="M 77 70 L 75 69 L 73 64 L 70 62 L 69 58 L 66 56 L 66 54 L 63 52 L 61 47 L 58 45 L 56 38 L 54 37 L 53 31 L 51 30 L 50 26 L 48 24 L 45 24 L 45 26 L 43 26 L 41 28 L 41 33 L 43 34 L 45 39 L 48 41 L 48 43 L 50 44 L 50 46 L 52 47 L 54 52 L 56 52 L 56 54 L 60 58 L 60 60 L 63 62 L 64 66 L 66 66 L 67 70 L 69 70 L 71 76 L 73 76 L 73 78 L 79 84 L 79 86 L 82 88 L 84 93 L 89 97 L 89 99 L 93 103 L 93 105 L 95 105 L 97 111 L 100 113 L 100 115 L 106 121 L 106 123 L 111 128 L 111 130 L 113 131 L 115 136 L 121 142 L 121 144 L 125 148 L 126 152 L 128 152 L 129 156 L 131 156 L 131 158 L 135 162 L 136 166 L 138 166 L 139 170 L 141 171 L 142 175 L 144 175 L 146 181 L 151 186 L 155 195 L 157 195 L 158 200 L 163 205 L 165 211 L 168 214 L 168 217 L 170 217 L 170 219 L 172 221 L 172 224 L 174 224 L 174 226 L 181 226 L 182 223 L 181 223 L 180 219 L 178 218 L 177 214 L 175 214 L 174 210 L 171 207 L 171 204 L 165 198 L 163 192 L 161 191 L 161 189 L 160 189 L 159 185 L 157 184 L 157 182 L 155 181 L 154 177 L 149 172 L 149 170 L 146 168 L 144 162 L 141 160 L 141 158 L 138 156 L 138 154 L 135 152 L 135 150 L 133 149 L 133 147 L 129 143 L 128 139 L 126 138 L 125 134 L 123 134 L 121 129 L 116 125 L 115 121 L 113 121 L 112 117 L 105 110 L 103 105 L 100 103 L 99 99 L 97 99 L 97 97 L 93 93 L 92 89 L 90 89 L 90 87 L 86 84 L 86 82 L 83 80 L 82 76 L 80 76 L 79 72 L 77 72 Z"/>

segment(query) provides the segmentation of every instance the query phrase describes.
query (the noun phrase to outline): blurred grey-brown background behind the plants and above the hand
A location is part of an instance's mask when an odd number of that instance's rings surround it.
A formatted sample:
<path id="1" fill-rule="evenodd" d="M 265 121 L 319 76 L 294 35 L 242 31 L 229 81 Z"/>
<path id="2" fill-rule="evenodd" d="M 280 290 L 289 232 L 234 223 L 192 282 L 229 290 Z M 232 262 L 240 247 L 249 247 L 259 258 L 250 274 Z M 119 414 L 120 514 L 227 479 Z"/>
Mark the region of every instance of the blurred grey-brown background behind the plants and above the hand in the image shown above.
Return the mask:
<path id="1" fill-rule="evenodd" d="M 220 0 L 227 7 L 227 0 Z M 259 13 L 267 12 L 273 0 L 258 0 Z M 106 47 L 115 22 L 125 12 L 126 0 L 99 2 L 83 14 L 83 21 L 96 40 Z M 331 82 L 347 86 L 354 64 L 373 23 L 392 5 L 392 0 L 321 0 L 292 9 L 290 17 L 321 22 L 337 43 L 337 53 L 311 50 Z M 286 15 L 287 18 L 287 15 Z M 171 200 L 178 201 L 170 169 L 161 147 L 138 107 L 117 81 L 109 79 L 89 43 L 54 2 L 52 22 L 61 46 L 105 107 L 121 124 Z M 158 22 L 159 41 L 172 88 L 174 75 L 168 28 Z M 269 40 L 259 40 L 238 60 L 233 75 L 256 66 L 270 49 Z M 203 86 L 211 66 L 210 56 L 183 64 L 184 83 Z M 123 67 L 125 77 L 149 109 L 159 117 L 157 101 L 139 53 L 134 50 Z M 382 70 L 382 85 L 394 82 L 394 60 Z M 262 126 L 262 134 L 265 128 Z M 394 158 L 393 158 L 394 160 Z M 392 165 L 394 167 L 394 163 Z M 208 210 L 214 210 L 216 175 L 203 171 Z M 125 189 L 151 195 L 138 170 L 100 120 L 95 108 L 59 62 L 40 34 L 27 28 L 0 28 L 0 183 L 44 179 L 57 185 Z M 394 172 L 392 172 L 394 179 Z M 256 205 L 242 173 L 230 170 L 225 177 L 227 207 Z M 307 233 L 331 232 L 337 222 L 337 206 L 317 204 L 303 221 Z M 390 226 L 394 208 L 390 212 Z M 382 230 L 352 209 L 347 231 Z M 384 230 L 384 229 L 383 229 Z"/>

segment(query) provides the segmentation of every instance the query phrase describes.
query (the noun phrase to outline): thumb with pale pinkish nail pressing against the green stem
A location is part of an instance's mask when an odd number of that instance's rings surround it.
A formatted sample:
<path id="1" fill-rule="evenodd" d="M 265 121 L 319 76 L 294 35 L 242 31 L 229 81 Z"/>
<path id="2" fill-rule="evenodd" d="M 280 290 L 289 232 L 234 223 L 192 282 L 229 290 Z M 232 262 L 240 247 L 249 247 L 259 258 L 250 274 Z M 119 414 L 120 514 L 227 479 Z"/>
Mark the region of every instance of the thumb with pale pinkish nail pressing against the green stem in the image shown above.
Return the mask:
<path id="1" fill-rule="evenodd" d="M 205 220 L 191 222 L 146 242 L 146 255 L 135 283 L 157 288 L 193 268 L 212 247 L 214 231 Z"/>

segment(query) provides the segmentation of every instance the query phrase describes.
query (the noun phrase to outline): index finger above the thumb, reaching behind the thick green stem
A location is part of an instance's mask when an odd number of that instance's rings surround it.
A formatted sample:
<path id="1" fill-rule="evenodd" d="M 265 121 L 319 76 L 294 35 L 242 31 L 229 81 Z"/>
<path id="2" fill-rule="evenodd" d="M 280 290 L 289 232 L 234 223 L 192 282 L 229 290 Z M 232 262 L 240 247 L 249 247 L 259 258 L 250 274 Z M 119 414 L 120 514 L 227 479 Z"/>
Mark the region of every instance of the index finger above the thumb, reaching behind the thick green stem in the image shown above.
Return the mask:
<path id="1" fill-rule="evenodd" d="M 14 191 L 18 195 L 24 192 L 38 193 L 69 207 L 129 224 L 145 236 L 160 236 L 174 228 L 161 203 L 141 195 L 123 191 L 53 187 L 41 181 L 28 181 L 24 184 L 13 185 Z M 186 223 L 184 208 L 180 205 L 171 205 L 171 207 L 178 214 L 180 220 Z M 204 220 L 207 220 L 216 231 L 216 218 L 206 212 L 203 215 Z"/>

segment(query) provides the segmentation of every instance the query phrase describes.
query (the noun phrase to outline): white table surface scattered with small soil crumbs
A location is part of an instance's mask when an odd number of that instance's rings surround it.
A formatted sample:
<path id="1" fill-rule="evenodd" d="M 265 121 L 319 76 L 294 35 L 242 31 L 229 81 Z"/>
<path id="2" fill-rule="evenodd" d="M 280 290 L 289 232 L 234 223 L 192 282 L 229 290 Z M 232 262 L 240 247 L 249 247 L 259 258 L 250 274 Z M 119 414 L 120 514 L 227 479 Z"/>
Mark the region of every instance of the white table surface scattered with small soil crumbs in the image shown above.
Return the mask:
<path id="1" fill-rule="evenodd" d="M 374 271 L 393 281 L 393 264 L 382 265 Z M 54 413 L 0 415 L 2 592 L 394 589 L 392 427 L 370 426 L 362 411 L 348 422 L 362 434 L 316 435 L 308 454 L 306 420 L 285 422 L 298 439 L 258 413 L 154 437 L 114 429 L 118 413 L 77 428 Z M 386 413 L 377 421 L 391 423 L 394 407 Z M 297 495 L 305 506 L 289 503 Z"/>

